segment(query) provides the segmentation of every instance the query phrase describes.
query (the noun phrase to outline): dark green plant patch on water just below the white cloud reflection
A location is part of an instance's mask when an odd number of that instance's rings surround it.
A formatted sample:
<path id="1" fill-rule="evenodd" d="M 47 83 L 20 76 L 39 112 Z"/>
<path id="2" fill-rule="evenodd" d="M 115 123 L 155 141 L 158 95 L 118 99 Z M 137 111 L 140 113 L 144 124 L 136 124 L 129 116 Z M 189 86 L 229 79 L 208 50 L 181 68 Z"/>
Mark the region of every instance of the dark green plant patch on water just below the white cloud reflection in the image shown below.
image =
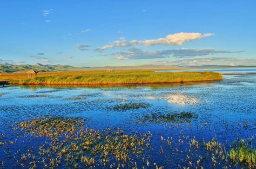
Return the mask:
<path id="1" fill-rule="evenodd" d="M 169 122 L 189 122 L 191 119 L 198 117 L 195 113 L 182 112 L 182 113 L 151 113 L 144 114 L 142 118 L 138 119 L 139 123 L 169 123 Z"/>

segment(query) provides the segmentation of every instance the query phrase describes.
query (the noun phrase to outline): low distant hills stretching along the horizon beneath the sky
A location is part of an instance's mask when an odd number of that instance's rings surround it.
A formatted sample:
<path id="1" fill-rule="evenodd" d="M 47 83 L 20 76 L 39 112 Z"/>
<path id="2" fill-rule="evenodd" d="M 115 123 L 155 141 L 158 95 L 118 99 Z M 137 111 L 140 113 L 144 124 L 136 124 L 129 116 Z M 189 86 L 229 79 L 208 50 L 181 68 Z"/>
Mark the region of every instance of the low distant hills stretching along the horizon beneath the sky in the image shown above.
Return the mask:
<path id="1" fill-rule="evenodd" d="M 52 72 L 52 71 L 83 71 L 83 70 L 107 70 L 107 69 L 119 69 L 119 70 L 128 70 L 128 69 L 182 69 L 182 68 L 237 68 L 237 67 L 256 67 L 256 66 L 227 66 L 227 65 L 204 65 L 204 66 L 191 66 L 191 67 L 182 67 L 182 66 L 175 66 L 175 65 L 140 65 L 140 66 L 105 66 L 105 67 L 73 67 L 69 65 L 60 65 L 60 64 L 8 64 L 8 63 L 0 63 L 0 73 L 24 73 L 27 72 L 29 69 L 35 69 L 38 72 Z"/>

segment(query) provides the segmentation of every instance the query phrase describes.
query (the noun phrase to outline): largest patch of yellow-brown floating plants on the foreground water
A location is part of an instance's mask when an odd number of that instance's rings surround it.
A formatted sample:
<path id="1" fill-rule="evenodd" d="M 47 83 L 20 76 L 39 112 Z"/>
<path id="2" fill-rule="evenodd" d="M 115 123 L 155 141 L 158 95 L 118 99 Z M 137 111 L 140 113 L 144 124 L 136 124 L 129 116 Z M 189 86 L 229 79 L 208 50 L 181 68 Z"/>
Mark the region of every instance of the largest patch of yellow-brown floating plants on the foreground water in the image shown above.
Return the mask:
<path id="1" fill-rule="evenodd" d="M 143 150 L 150 145 L 149 133 L 127 135 L 118 129 L 94 130 L 84 126 L 85 122 L 47 116 L 17 123 L 15 134 L 24 144 L 25 140 L 42 142 L 38 150 L 29 149 L 16 156 L 17 166 L 114 169 L 136 168 L 138 162 L 142 163 Z"/>

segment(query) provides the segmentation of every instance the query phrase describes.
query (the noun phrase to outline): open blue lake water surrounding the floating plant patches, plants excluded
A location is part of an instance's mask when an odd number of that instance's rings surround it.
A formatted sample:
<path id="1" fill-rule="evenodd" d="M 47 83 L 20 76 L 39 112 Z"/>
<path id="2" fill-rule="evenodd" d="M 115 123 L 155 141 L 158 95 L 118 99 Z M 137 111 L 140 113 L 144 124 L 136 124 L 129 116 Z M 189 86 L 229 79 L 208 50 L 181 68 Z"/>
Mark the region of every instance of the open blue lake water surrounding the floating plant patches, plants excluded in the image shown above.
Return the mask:
<path id="1" fill-rule="evenodd" d="M 24 160 L 21 156 L 27 156 L 30 152 L 36 156 L 36 165 L 42 168 L 44 165 L 38 150 L 44 140 L 29 134 L 27 138 L 17 137 L 12 128 L 15 122 L 49 115 L 85 118 L 85 125 L 90 128 L 118 128 L 128 135 L 150 131 L 150 147 L 144 147 L 142 155 L 132 156 L 138 168 L 142 165 L 155 168 L 154 163 L 164 166 L 164 169 L 179 166 L 193 168 L 198 165 L 196 161 L 199 157 L 200 166 L 204 169 L 213 168 L 211 152 L 200 148 L 195 150 L 189 146 L 193 138 L 199 143 L 215 138 L 227 150 L 237 138 L 245 138 L 247 141 L 251 139 L 251 146 L 254 149 L 256 146 L 253 138 L 256 137 L 256 74 L 248 73 L 256 69 L 221 69 L 220 72 L 226 71 L 234 74 L 223 75 L 222 81 L 202 83 L 115 87 L 1 87 L 0 142 L 4 144 L 0 146 L 0 163 L 3 162 L 5 168 L 23 168 L 21 163 L 25 165 L 24 168 L 29 168 L 33 160 Z M 239 73 L 241 71 L 243 73 Z M 146 106 L 137 109 L 118 108 L 124 104 Z M 157 117 L 162 117 L 156 114 L 182 112 L 193 113 L 195 118 L 187 122 L 155 121 Z M 5 137 L 1 137 L 3 134 Z M 168 144 L 170 142 L 171 147 Z M 47 156 L 44 158 L 47 160 Z M 144 160 L 150 162 L 149 167 L 146 167 Z M 216 161 L 216 168 L 229 166 L 229 162 L 226 164 L 217 156 Z M 64 163 L 63 160 L 60 168 L 65 166 Z M 115 158 L 110 158 L 110 163 L 117 162 Z M 102 165 L 97 161 L 91 168 L 102 168 Z M 109 168 L 108 165 L 106 168 Z M 128 168 L 128 165 L 124 168 Z M 239 164 L 232 164 L 230 168 L 239 168 Z"/>

